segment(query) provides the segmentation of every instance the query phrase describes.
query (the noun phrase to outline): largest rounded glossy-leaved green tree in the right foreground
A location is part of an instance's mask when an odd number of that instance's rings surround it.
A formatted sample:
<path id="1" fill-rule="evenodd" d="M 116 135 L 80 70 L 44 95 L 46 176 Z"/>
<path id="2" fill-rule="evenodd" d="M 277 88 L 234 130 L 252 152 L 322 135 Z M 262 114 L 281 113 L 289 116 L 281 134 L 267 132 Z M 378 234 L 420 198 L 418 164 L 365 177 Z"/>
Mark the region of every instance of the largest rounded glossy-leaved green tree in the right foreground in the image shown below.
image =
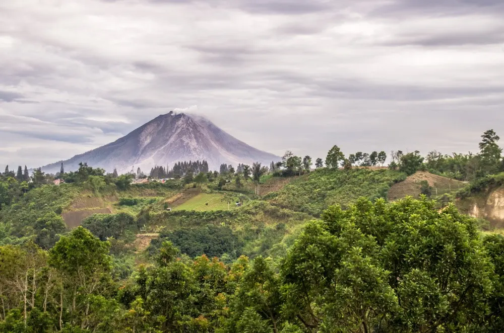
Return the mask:
<path id="1" fill-rule="evenodd" d="M 327 332 L 484 329 L 492 266 L 475 220 L 412 198 L 322 218 L 282 263 L 286 319 Z"/>

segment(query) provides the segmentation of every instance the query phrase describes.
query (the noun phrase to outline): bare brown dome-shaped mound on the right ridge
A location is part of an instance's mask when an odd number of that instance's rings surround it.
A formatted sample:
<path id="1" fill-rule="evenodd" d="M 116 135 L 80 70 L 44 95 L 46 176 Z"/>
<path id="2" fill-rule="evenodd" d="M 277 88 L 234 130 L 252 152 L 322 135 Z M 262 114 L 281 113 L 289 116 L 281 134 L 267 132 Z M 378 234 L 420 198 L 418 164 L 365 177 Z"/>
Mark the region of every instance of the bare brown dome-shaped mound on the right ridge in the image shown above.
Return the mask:
<path id="1" fill-rule="evenodd" d="M 387 199 L 394 201 L 406 196 L 417 198 L 421 193 L 421 182 L 423 181 L 426 181 L 432 188 L 431 192 L 433 196 L 458 191 L 468 184 L 466 182 L 433 175 L 425 171 L 418 171 L 414 175 L 407 177 L 403 182 L 392 185 L 387 194 Z"/>

